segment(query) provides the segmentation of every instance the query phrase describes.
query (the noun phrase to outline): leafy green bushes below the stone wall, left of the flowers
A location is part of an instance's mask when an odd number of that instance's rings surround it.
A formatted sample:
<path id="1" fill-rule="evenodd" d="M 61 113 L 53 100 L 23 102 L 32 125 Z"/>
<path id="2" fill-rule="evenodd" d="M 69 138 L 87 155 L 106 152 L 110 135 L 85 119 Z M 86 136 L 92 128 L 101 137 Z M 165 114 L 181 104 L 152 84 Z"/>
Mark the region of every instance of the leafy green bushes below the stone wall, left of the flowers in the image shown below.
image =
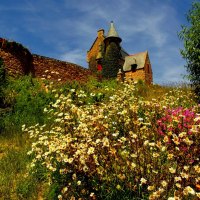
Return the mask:
<path id="1" fill-rule="evenodd" d="M 19 132 L 23 124 L 33 125 L 47 120 L 43 109 L 52 101 L 52 93 L 45 92 L 41 83 L 31 76 L 10 79 L 5 95 L 5 102 L 10 105 L 1 122 L 5 131 Z"/>

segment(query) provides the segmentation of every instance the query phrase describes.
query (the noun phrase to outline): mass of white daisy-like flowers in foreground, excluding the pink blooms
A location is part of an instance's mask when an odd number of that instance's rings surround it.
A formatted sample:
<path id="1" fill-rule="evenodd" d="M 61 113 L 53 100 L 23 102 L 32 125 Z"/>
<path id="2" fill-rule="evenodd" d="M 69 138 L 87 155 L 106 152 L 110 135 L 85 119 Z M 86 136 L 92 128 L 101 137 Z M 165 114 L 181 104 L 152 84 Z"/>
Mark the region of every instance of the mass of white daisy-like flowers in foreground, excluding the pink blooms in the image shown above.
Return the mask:
<path id="1" fill-rule="evenodd" d="M 96 199 L 100 183 L 105 187 L 114 184 L 119 191 L 123 187 L 134 191 L 147 188 L 149 199 L 199 196 L 194 188 L 200 181 L 199 134 L 160 136 L 157 132 L 156 123 L 164 110 L 178 105 L 174 91 L 161 101 L 145 101 L 134 95 L 136 90 L 134 85 L 124 84 L 105 102 L 79 106 L 72 99 L 74 89 L 68 95 L 55 92 L 56 101 L 44 109 L 53 118 L 52 124 L 22 127 L 35 140 L 28 152 L 35 155 L 32 166 L 40 162 L 50 173 L 69 175 L 58 199 L 70 199 L 75 194 Z M 180 90 L 175 92 L 179 100 L 184 99 Z M 81 90 L 77 97 L 84 100 L 87 94 Z M 186 105 L 189 100 L 184 102 Z M 193 110 L 197 113 L 198 109 Z M 198 115 L 196 127 L 191 129 L 196 130 L 199 124 Z M 180 138 L 184 146 L 179 145 Z M 190 155 L 185 155 L 184 149 Z M 84 177 L 98 182 L 92 191 Z M 74 192 L 74 188 L 80 191 Z M 172 193 L 174 197 L 169 196 Z"/>

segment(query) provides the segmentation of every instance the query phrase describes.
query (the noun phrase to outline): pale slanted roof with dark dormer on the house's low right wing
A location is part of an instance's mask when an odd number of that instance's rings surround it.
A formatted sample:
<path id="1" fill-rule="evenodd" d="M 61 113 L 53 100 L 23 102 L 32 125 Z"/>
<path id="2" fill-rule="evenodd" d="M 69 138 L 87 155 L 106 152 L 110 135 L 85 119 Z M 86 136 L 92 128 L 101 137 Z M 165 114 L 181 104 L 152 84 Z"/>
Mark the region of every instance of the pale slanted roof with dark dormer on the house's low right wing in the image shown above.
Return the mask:
<path id="1" fill-rule="evenodd" d="M 129 55 L 125 57 L 125 62 L 123 66 L 123 71 L 131 71 L 132 65 L 136 64 L 136 69 L 142 69 L 144 68 L 145 61 L 147 58 L 148 52 L 140 52 L 137 54 Z"/>

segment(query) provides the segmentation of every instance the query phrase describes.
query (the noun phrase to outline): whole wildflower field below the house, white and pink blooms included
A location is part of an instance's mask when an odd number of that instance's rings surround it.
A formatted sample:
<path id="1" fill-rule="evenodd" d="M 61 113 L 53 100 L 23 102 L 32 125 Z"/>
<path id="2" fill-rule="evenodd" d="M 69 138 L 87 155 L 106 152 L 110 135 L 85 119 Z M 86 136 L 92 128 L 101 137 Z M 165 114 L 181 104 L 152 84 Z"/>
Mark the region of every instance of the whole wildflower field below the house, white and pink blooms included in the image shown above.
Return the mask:
<path id="1" fill-rule="evenodd" d="M 21 133 L 43 199 L 200 198 L 200 106 L 189 87 L 46 87 L 45 120 Z"/>

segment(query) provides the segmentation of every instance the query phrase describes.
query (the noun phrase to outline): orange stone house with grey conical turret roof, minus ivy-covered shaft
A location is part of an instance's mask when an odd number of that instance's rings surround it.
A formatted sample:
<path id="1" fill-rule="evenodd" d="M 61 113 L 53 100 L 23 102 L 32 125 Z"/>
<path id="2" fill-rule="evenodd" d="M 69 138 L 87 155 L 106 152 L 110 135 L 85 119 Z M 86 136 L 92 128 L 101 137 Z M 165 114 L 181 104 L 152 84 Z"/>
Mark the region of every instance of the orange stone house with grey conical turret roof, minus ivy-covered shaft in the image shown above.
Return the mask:
<path id="1" fill-rule="evenodd" d="M 111 21 L 107 35 L 104 35 L 104 30 L 97 31 L 97 37 L 92 46 L 87 52 L 87 62 L 92 71 L 98 69 L 103 58 L 103 53 L 106 51 L 110 42 L 115 42 L 119 47 L 120 60 L 119 70 L 122 70 L 122 75 L 125 79 L 134 81 L 143 80 L 147 84 L 153 82 L 153 72 L 151 62 L 147 51 L 129 55 L 122 47 L 122 39 L 119 37 L 114 23 Z"/>

